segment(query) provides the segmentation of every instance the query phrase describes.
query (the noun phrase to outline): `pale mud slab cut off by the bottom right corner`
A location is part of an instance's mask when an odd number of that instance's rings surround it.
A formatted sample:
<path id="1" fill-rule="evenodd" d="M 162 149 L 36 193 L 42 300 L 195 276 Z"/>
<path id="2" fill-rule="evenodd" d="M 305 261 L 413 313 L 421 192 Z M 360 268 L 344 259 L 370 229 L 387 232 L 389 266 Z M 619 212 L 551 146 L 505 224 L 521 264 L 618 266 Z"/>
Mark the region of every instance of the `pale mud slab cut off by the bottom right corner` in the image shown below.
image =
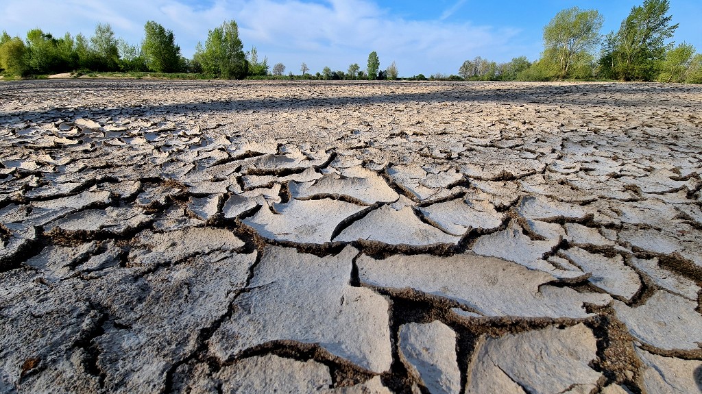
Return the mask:
<path id="1" fill-rule="evenodd" d="M 702 392 L 702 360 L 655 355 L 635 348 L 644 362 L 643 383 L 649 393 L 689 394 Z"/>

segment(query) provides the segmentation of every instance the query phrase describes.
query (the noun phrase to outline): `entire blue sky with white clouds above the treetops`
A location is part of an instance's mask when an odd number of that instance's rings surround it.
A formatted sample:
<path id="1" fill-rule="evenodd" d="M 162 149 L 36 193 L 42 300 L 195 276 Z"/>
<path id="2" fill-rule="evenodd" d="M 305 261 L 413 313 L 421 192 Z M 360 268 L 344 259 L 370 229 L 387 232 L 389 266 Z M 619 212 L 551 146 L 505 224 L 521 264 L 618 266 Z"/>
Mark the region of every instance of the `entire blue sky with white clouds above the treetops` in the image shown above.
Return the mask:
<path id="1" fill-rule="evenodd" d="M 155 20 L 173 30 L 183 55 L 192 56 L 208 29 L 225 20 L 239 24 L 244 49 L 256 46 L 269 64 L 286 72 L 323 67 L 366 67 L 376 50 L 380 67 L 395 61 L 401 76 L 456 74 L 464 60 L 481 56 L 497 62 L 541 53 L 543 26 L 563 8 L 595 8 L 604 16 L 602 34 L 618 29 L 631 7 L 643 0 L 609 1 L 374 1 L 374 0 L 3 0 L 0 29 L 25 36 L 40 27 L 62 35 L 90 36 L 108 22 L 130 43 L 143 38 L 143 25 Z M 671 0 L 670 15 L 680 23 L 675 41 L 702 52 L 702 0 Z"/>

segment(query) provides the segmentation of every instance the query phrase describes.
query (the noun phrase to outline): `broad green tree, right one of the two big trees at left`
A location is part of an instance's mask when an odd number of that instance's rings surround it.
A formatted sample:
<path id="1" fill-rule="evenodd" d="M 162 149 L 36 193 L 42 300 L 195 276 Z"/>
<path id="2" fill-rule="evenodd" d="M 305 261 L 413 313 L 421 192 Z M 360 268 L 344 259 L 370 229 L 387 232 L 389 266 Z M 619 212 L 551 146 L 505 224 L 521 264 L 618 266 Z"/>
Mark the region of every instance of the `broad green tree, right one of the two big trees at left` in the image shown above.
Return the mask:
<path id="1" fill-rule="evenodd" d="M 224 79 L 244 79 L 249 72 L 244 45 L 239 39 L 239 26 L 234 20 L 210 30 L 204 48 L 199 43 L 198 46 L 201 52 L 196 52 L 196 55 L 206 74 Z"/>

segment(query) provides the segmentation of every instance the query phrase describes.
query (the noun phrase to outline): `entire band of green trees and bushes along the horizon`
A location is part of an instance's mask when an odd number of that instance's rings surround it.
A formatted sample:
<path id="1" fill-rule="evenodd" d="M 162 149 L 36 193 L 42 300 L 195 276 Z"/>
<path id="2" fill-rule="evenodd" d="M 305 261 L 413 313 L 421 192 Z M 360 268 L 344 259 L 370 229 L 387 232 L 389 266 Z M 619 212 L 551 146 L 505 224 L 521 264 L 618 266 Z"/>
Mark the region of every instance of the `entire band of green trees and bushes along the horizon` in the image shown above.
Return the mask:
<path id="1" fill-rule="evenodd" d="M 559 11 L 543 29 L 543 53 L 530 62 L 515 57 L 492 62 L 480 56 L 465 60 L 457 75 L 423 74 L 404 78 L 425 81 L 553 81 L 620 80 L 702 83 L 702 54 L 688 43 L 675 46 L 677 24 L 668 15 L 668 0 L 644 0 L 631 9 L 617 32 L 602 36 L 603 18 L 596 10 L 578 7 Z M 324 67 L 310 74 L 306 63 L 300 75 L 285 74 L 286 66 L 260 60 L 256 47 L 244 52 L 234 20 L 211 29 L 198 43 L 192 59 L 180 54 L 171 30 L 146 22 L 138 45 L 117 38 L 108 24 L 98 23 L 89 38 L 78 34 L 55 37 L 32 29 L 22 40 L 3 32 L 0 36 L 0 73 L 6 77 L 34 77 L 72 73 L 73 76 L 173 77 L 178 79 L 399 79 L 395 62 L 380 68 L 376 51 L 369 54 L 366 69 L 358 63 L 346 71 Z M 294 68 L 294 67 L 293 67 Z M 98 74 L 96 74 L 98 73 Z"/>

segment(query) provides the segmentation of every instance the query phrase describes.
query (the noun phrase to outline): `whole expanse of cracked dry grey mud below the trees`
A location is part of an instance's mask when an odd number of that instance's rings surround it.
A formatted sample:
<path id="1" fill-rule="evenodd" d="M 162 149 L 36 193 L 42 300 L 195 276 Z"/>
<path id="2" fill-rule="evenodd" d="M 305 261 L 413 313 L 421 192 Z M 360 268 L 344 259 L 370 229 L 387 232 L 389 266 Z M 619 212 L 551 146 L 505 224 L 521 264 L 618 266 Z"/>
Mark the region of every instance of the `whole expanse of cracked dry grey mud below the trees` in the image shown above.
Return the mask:
<path id="1" fill-rule="evenodd" d="M 0 85 L 3 393 L 698 393 L 702 87 Z"/>

